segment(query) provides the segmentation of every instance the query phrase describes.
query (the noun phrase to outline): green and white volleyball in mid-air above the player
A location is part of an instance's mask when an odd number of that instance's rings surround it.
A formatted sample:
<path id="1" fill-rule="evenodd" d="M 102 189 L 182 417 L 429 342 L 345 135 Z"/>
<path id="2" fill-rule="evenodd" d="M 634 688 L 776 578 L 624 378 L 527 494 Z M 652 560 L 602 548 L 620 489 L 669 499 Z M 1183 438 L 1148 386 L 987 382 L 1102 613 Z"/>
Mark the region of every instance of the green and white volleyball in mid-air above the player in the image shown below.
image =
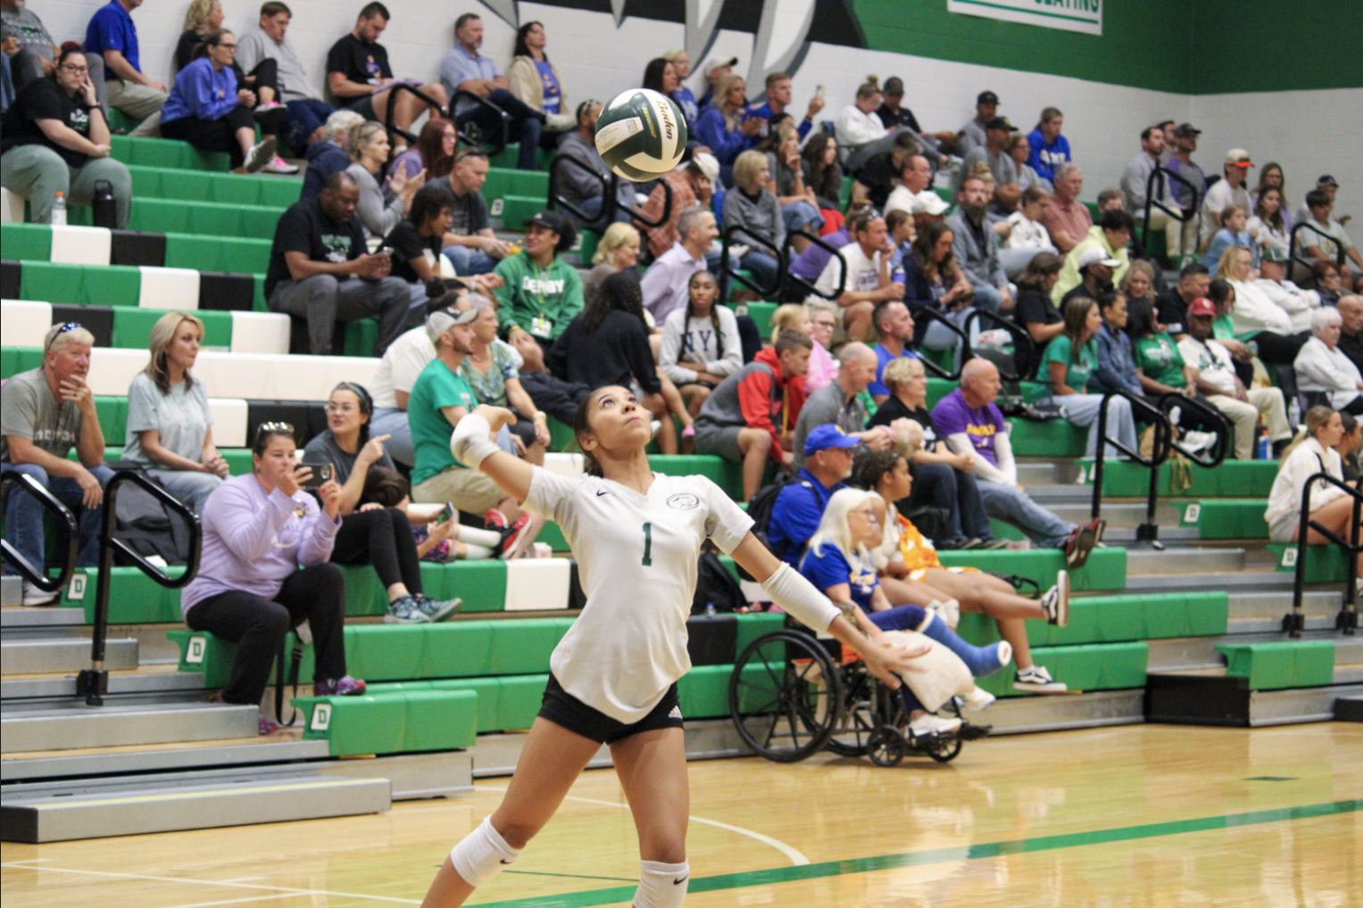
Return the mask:
<path id="1" fill-rule="evenodd" d="M 630 88 L 601 110 L 597 152 L 635 182 L 657 180 L 682 162 L 686 117 L 676 101 L 650 88 Z"/>

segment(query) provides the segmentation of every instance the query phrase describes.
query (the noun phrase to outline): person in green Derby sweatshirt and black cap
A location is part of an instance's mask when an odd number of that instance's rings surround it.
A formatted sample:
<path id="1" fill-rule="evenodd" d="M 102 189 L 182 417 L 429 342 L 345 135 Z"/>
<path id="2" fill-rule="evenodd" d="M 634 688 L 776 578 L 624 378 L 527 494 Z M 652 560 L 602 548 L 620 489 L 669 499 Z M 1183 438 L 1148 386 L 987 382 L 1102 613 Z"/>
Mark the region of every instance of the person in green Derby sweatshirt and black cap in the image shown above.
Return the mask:
<path id="1" fill-rule="evenodd" d="M 495 291 L 502 335 L 512 342 L 526 332 L 541 347 L 559 339 L 572 317 L 582 312 L 582 278 L 559 253 L 572 248 L 578 230 L 557 211 L 541 211 L 525 222 L 525 248 L 497 263 L 506 282 Z"/>

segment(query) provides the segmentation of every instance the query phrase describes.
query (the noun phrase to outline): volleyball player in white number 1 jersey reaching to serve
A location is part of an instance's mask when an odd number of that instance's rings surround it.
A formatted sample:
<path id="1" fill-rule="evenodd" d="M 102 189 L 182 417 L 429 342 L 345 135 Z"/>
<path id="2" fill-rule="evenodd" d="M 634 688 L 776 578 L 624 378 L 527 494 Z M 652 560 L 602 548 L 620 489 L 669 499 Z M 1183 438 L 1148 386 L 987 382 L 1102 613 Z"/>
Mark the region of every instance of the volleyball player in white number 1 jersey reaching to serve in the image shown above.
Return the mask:
<path id="1" fill-rule="evenodd" d="M 857 649 L 890 687 L 923 655 L 874 645 L 789 565 L 750 532 L 752 520 L 703 476 L 649 468 L 649 412 L 628 389 L 598 388 L 572 430 L 587 476 L 568 479 L 500 452 L 491 440 L 512 415 L 478 407 L 459 421 L 450 448 L 529 510 L 552 517 L 578 561 L 587 594 L 582 615 L 553 651 L 540 716 L 496 813 L 454 847 L 423 905 L 462 905 L 517 859 L 557 810 L 602 743 L 624 787 L 639 834 L 635 908 L 676 908 L 691 875 L 686 745 L 676 681 L 690 660 L 686 619 L 696 558 L 710 538 L 762 580 L 771 602 Z"/>

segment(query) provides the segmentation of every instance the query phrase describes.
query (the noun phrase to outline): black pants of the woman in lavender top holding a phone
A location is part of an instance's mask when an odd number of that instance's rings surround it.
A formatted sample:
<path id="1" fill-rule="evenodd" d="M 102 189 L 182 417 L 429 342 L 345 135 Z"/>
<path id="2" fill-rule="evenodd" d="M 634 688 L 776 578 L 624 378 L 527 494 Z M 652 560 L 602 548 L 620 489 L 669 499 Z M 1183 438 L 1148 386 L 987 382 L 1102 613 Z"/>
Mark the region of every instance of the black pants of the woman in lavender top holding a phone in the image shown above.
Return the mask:
<path id="1" fill-rule="evenodd" d="M 312 628 L 313 681 L 345 677 L 345 574 L 322 562 L 292 574 L 274 599 L 221 592 L 195 603 L 184 617 L 192 630 L 207 630 L 237 644 L 226 702 L 259 704 L 284 636 L 304 621 Z"/>

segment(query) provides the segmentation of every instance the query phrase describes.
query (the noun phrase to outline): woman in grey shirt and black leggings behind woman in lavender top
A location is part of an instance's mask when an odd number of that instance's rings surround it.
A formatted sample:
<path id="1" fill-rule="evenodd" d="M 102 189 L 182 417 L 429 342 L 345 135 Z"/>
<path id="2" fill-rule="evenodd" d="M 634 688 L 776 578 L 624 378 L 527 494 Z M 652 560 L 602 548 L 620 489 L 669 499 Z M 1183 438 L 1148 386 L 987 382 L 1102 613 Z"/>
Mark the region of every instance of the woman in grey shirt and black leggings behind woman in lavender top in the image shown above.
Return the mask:
<path id="1" fill-rule="evenodd" d="M 327 400 L 327 429 L 303 449 L 309 463 L 330 463 L 341 485 L 341 530 L 331 550 L 338 565 L 372 564 L 388 594 L 387 623 L 444 621 L 462 604 L 458 599 L 436 602 L 421 594 L 421 558 L 405 510 L 363 501 L 371 466 L 395 470 L 383 449 L 388 436 L 369 437 L 373 398 L 350 381 L 342 381 Z"/>

